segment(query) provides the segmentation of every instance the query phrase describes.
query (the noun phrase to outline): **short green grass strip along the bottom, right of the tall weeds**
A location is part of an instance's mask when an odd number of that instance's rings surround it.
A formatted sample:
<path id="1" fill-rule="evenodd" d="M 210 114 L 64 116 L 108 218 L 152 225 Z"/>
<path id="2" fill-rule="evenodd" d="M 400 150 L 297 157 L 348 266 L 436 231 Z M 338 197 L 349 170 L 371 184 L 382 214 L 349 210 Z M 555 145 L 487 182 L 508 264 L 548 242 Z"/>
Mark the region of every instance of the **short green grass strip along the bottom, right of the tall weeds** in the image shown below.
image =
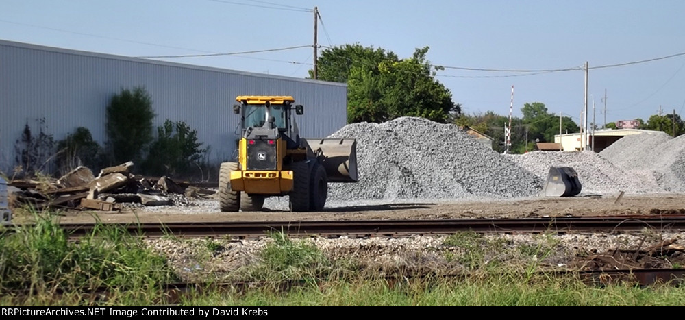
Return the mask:
<path id="1" fill-rule="evenodd" d="M 336 280 L 304 285 L 286 292 L 253 288 L 189 297 L 188 306 L 682 306 L 685 289 L 673 286 L 638 288 L 628 284 L 603 288 L 573 278 L 457 280 Z"/>

